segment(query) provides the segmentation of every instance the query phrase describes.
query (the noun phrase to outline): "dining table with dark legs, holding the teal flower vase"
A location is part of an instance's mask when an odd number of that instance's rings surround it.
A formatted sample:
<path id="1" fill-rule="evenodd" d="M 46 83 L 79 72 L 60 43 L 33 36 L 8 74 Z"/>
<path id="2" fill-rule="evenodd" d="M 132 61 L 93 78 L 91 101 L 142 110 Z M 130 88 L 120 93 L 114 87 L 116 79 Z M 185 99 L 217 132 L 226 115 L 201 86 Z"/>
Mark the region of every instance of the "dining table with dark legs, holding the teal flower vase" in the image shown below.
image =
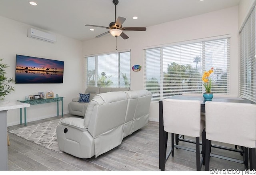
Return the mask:
<path id="1" fill-rule="evenodd" d="M 171 97 L 168 97 L 169 99 L 180 99 L 180 100 L 199 100 L 201 103 L 201 113 L 205 113 L 205 102 L 206 100 L 202 95 L 174 95 Z M 254 101 L 251 101 L 249 99 L 240 98 L 240 97 L 213 97 L 212 100 L 215 102 L 232 102 L 232 103 L 250 103 L 250 104 L 256 104 Z M 206 116 L 207 117 L 207 116 Z M 165 165 L 166 160 L 168 159 L 168 154 L 164 152 L 165 145 L 168 138 L 168 132 L 164 131 L 164 120 L 163 120 L 163 103 L 162 100 L 159 101 L 159 169 L 162 169 L 162 167 Z M 236 151 L 236 149 L 230 149 L 226 147 L 219 147 L 221 149 L 227 149 L 231 151 Z"/>

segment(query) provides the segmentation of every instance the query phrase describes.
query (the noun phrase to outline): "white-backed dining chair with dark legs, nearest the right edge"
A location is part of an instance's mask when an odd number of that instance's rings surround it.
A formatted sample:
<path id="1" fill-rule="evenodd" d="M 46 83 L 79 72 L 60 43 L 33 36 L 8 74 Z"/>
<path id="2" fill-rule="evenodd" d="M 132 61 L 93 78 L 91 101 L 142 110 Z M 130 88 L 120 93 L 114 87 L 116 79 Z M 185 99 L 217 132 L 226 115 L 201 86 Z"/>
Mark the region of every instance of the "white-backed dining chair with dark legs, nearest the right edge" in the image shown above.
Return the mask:
<path id="1" fill-rule="evenodd" d="M 256 168 L 256 105 L 248 103 L 205 102 L 206 111 L 206 155 L 205 170 L 209 170 L 211 142 L 218 141 L 240 145 L 244 150 L 244 159 L 238 160 L 225 155 L 217 157 L 243 163 L 248 169 L 248 148 L 250 169 Z"/>

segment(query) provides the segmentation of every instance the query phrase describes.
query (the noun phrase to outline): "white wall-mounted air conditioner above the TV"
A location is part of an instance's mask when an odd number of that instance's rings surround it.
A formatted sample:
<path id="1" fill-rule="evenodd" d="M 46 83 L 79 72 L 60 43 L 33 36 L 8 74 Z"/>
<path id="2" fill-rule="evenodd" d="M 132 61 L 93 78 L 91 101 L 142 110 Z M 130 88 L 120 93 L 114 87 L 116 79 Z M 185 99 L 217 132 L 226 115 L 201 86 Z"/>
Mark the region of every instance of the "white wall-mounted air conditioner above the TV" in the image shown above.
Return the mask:
<path id="1" fill-rule="evenodd" d="M 28 37 L 29 38 L 36 38 L 39 40 L 43 40 L 43 41 L 47 41 L 47 42 L 56 42 L 56 36 L 46 33 L 46 32 L 42 32 L 40 30 L 36 30 L 33 28 L 29 28 L 28 29 Z"/>

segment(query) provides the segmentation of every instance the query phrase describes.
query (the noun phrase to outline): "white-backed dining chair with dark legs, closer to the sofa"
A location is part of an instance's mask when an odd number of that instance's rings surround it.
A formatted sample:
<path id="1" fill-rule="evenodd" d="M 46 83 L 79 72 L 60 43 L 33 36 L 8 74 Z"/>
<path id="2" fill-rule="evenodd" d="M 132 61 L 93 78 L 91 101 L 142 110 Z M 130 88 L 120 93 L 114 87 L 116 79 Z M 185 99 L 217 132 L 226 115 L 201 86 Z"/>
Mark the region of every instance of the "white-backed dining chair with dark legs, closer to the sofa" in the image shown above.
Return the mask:
<path id="1" fill-rule="evenodd" d="M 163 99 L 163 125 L 164 131 L 171 133 L 171 150 L 166 156 L 168 134 L 165 134 L 165 150 L 163 151 L 164 165 L 160 166 L 161 170 L 165 169 L 165 163 L 170 154 L 174 156 L 174 147 L 187 151 L 196 152 L 196 170 L 201 170 L 204 163 L 205 155 L 205 122 L 201 120 L 200 106 L 198 100 L 178 100 Z M 174 144 L 174 134 L 186 135 L 196 138 L 196 148 L 191 149 L 185 146 Z M 200 160 L 200 135 L 202 134 L 202 159 Z M 161 155 L 162 156 L 162 155 Z"/>

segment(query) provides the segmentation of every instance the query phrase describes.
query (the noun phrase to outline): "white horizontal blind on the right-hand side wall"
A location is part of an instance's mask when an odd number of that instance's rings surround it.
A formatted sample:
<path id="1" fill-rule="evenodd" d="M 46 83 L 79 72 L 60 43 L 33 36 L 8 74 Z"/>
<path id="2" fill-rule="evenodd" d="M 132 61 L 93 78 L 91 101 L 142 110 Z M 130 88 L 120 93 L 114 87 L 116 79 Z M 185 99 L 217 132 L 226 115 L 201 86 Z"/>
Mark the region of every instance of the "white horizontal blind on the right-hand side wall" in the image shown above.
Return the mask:
<path id="1" fill-rule="evenodd" d="M 254 8 L 239 34 L 239 93 L 240 97 L 256 102 L 255 28 Z"/>

